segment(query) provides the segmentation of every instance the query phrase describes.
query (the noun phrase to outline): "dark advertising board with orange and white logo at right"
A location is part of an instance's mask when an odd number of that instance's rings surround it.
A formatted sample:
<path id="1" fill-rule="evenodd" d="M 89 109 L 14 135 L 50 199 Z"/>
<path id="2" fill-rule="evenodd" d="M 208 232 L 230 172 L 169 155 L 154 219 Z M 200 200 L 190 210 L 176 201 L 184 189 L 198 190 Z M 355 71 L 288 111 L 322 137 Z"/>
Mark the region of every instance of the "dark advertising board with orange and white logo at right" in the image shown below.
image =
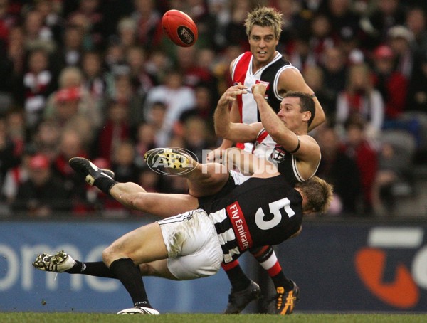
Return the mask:
<path id="1" fill-rule="evenodd" d="M 276 248 L 295 310 L 427 311 L 427 224 L 305 223 Z"/>

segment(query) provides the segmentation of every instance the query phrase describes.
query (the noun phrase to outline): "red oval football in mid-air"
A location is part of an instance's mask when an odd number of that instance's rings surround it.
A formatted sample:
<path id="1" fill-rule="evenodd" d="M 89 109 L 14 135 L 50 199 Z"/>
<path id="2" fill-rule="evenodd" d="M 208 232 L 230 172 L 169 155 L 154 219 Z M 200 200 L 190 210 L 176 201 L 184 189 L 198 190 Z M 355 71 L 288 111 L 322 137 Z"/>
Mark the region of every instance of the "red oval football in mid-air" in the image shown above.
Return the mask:
<path id="1" fill-rule="evenodd" d="M 162 28 L 168 38 L 178 46 L 193 46 L 197 41 L 196 23 L 182 11 L 166 11 L 162 18 Z"/>

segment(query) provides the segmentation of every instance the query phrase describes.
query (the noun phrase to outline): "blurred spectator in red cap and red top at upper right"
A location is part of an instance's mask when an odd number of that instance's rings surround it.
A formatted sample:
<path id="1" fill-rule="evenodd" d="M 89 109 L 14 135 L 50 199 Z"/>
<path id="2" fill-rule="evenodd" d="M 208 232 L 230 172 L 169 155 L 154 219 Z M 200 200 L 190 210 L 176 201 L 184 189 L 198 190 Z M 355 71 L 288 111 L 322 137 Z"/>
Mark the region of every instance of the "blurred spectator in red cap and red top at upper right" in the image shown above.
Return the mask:
<path id="1" fill-rule="evenodd" d="M 377 47 L 373 58 L 373 85 L 384 100 L 384 117 L 386 120 L 396 120 L 406 109 L 408 80 L 394 70 L 394 53 L 389 46 Z"/>

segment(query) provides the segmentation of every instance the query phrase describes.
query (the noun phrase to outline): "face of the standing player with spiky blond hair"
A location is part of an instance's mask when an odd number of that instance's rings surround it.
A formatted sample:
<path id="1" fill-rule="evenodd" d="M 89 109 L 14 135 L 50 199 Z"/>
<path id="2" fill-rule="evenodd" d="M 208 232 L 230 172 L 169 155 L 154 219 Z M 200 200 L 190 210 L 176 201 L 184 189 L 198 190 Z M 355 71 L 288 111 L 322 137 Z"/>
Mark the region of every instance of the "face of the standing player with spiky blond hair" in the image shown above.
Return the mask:
<path id="1" fill-rule="evenodd" d="M 263 66 L 273 60 L 278 41 L 273 33 L 273 28 L 257 25 L 252 27 L 251 35 L 249 36 L 249 45 L 251 46 L 255 66 Z"/>

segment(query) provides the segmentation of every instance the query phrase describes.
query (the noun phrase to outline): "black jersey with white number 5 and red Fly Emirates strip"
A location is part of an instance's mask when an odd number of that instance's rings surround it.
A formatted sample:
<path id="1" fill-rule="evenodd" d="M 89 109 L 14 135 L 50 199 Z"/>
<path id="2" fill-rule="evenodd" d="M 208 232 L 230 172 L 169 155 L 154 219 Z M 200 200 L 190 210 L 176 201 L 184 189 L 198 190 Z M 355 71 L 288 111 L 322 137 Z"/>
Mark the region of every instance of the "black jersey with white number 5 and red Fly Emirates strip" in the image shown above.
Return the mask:
<path id="1" fill-rule="evenodd" d="M 218 201 L 223 208 L 209 214 L 224 254 L 224 262 L 249 248 L 277 245 L 302 223 L 302 197 L 282 175 L 251 177 Z"/>

